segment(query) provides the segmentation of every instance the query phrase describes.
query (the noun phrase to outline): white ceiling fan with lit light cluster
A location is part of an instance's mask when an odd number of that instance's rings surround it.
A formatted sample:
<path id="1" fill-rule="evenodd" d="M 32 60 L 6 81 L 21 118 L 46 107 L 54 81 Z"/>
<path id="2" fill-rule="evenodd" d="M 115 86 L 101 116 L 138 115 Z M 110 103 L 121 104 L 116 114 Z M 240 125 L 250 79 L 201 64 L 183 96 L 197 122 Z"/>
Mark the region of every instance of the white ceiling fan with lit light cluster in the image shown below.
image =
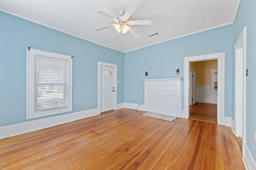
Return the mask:
<path id="1" fill-rule="evenodd" d="M 127 10 L 124 12 L 122 10 L 119 11 L 119 16 L 117 18 L 103 12 L 103 11 L 97 11 L 98 14 L 101 14 L 111 20 L 116 21 L 116 23 L 107 25 L 105 27 L 101 27 L 96 29 L 96 31 L 101 31 L 102 29 L 106 29 L 109 27 L 114 27 L 116 29 L 116 35 L 115 40 L 118 40 L 120 33 L 126 33 L 129 31 L 134 37 L 139 37 L 140 35 L 136 33 L 130 26 L 128 25 L 151 25 L 151 20 L 134 20 L 134 21 L 128 21 L 128 18 L 132 15 L 136 8 L 134 6 L 129 6 Z"/>

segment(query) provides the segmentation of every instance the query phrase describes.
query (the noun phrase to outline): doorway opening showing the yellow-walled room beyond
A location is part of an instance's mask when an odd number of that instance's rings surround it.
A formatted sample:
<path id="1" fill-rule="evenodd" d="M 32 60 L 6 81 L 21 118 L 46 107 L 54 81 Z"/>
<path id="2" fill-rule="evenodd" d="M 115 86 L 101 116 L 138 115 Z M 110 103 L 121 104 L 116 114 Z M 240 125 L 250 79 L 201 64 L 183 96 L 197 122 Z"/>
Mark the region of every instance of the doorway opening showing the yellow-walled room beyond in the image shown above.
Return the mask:
<path id="1" fill-rule="evenodd" d="M 218 59 L 190 62 L 189 118 L 217 124 Z"/>

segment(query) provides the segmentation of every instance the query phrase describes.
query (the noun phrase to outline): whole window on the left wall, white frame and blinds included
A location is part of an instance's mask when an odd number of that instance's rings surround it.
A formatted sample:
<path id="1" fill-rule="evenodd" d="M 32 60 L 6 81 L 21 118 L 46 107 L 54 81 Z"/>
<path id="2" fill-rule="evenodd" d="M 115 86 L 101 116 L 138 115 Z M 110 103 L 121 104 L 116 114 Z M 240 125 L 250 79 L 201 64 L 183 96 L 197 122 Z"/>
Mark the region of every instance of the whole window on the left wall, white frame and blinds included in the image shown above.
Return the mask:
<path id="1" fill-rule="evenodd" d="M 72 57 L 27 50 L 27 119 L 72 111 Z"/>

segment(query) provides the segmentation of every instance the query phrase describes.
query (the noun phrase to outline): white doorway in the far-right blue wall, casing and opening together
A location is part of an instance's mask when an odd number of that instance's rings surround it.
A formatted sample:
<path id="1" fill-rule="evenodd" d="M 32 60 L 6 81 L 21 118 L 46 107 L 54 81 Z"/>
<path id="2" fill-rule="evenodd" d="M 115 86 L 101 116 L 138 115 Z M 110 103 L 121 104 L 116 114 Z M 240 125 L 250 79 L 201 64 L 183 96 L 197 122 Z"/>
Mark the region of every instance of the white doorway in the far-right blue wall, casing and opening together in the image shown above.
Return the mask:
<path id="1" fill-rule="evenodd" d="M 246 144 L 246 27 L 235 44 L 234 133 L 242 137 L 244 156 Z"/>

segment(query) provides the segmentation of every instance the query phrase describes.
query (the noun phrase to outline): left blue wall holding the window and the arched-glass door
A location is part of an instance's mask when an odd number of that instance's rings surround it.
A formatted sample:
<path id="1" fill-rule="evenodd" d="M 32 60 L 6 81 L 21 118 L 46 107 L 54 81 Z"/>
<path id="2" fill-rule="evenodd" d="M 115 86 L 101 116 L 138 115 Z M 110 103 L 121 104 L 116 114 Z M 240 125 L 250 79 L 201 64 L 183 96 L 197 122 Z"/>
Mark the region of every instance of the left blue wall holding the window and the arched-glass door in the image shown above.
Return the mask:
<path id="1" fill-rule="evenodd" d="M 98 61 L 118 65 L 117 102 L 124 102 L 120 52 L 1 11 L 0 25 L 0 126 L 35 120 L 26 120 L 26 47 L 74 56 L 72 112 L 97 108 Z"/>

